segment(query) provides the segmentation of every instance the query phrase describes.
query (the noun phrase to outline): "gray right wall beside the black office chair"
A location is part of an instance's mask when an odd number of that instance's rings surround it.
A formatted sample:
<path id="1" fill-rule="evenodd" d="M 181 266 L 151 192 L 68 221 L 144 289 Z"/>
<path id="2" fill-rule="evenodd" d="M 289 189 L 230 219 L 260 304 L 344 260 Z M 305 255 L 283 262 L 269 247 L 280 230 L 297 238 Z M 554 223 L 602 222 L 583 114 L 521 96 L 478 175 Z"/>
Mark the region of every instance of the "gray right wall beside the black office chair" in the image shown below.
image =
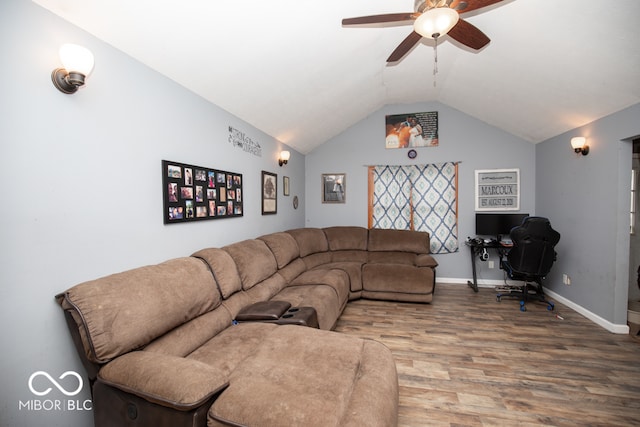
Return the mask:
<path id="1" fill-rule="evenodd" d="M 562 234 L 546 284 L 619 325 L 627 320 L 630 139 L 640 134 L 638 117 L 640 104 L 536 146 L 536 211 Z M 570 149 L 573 136 L 587 137 L 587 156 Z"/>

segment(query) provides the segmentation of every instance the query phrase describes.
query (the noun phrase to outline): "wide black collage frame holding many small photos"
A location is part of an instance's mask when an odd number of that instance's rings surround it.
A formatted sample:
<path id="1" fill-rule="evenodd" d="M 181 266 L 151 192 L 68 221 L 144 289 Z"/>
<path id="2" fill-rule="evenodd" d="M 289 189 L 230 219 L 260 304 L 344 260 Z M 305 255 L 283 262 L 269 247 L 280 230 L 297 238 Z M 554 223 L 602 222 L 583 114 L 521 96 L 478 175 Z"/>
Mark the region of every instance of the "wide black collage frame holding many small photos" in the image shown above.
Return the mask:
<path id="1" fill-rule="evenodd" d="M 242 216 L 242 174 L 162 161 L 165 224 Z"/>

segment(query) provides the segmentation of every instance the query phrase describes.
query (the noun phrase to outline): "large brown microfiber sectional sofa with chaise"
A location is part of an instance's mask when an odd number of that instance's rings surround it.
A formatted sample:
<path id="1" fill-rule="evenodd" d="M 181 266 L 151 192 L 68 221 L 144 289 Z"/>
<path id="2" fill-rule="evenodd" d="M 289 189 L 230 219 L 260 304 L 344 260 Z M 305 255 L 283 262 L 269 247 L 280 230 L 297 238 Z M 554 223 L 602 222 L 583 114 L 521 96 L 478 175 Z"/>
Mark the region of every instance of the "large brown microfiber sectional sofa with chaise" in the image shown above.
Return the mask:
<path id="1" fill-rule="evenodd" d="M 430 302 L 436 266 L 427 233 L 303 228 L 56 299 L 87 369 L 96 426 L 387 427 L 398 405 L 391 352 L 331 329 L 357 298 Z M 313 307 L 319 328 L 286 316 L 236 320 L 256 303 Z"/>

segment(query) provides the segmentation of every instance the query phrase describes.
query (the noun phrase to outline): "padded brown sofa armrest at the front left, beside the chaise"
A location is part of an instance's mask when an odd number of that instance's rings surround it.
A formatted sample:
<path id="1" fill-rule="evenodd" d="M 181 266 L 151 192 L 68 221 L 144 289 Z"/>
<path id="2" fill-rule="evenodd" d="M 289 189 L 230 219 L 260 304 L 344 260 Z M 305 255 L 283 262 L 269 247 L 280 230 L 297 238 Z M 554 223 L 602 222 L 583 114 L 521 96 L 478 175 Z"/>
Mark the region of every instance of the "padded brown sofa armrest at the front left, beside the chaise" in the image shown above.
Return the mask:
<path id="1" fill-rule="evenodd" d="M 226 375 L 206 363 L 150 351 L 124 354 L 102 367 L 103 383 L 153 403 L 188 411 L 228 385 Z"/>

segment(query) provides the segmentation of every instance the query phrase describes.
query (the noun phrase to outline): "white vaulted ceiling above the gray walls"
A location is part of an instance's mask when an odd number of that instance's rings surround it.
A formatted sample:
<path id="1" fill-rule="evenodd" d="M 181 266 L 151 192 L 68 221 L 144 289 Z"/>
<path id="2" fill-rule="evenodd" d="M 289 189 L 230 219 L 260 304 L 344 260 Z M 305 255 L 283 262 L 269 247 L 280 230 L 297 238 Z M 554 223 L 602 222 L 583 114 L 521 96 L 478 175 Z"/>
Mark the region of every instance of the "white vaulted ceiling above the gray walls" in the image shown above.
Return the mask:
<path id="1" fill-rule="evenodd" d="M 491 43 L 342 18 L 413 0 L 34 0 L 306 154 L 385 104 L 439 101 L 532 143 L 640 102 L 640 1 L 505 0 L 463 14 Z M 99 60 L 97 60 L 97 63 Z"/>

